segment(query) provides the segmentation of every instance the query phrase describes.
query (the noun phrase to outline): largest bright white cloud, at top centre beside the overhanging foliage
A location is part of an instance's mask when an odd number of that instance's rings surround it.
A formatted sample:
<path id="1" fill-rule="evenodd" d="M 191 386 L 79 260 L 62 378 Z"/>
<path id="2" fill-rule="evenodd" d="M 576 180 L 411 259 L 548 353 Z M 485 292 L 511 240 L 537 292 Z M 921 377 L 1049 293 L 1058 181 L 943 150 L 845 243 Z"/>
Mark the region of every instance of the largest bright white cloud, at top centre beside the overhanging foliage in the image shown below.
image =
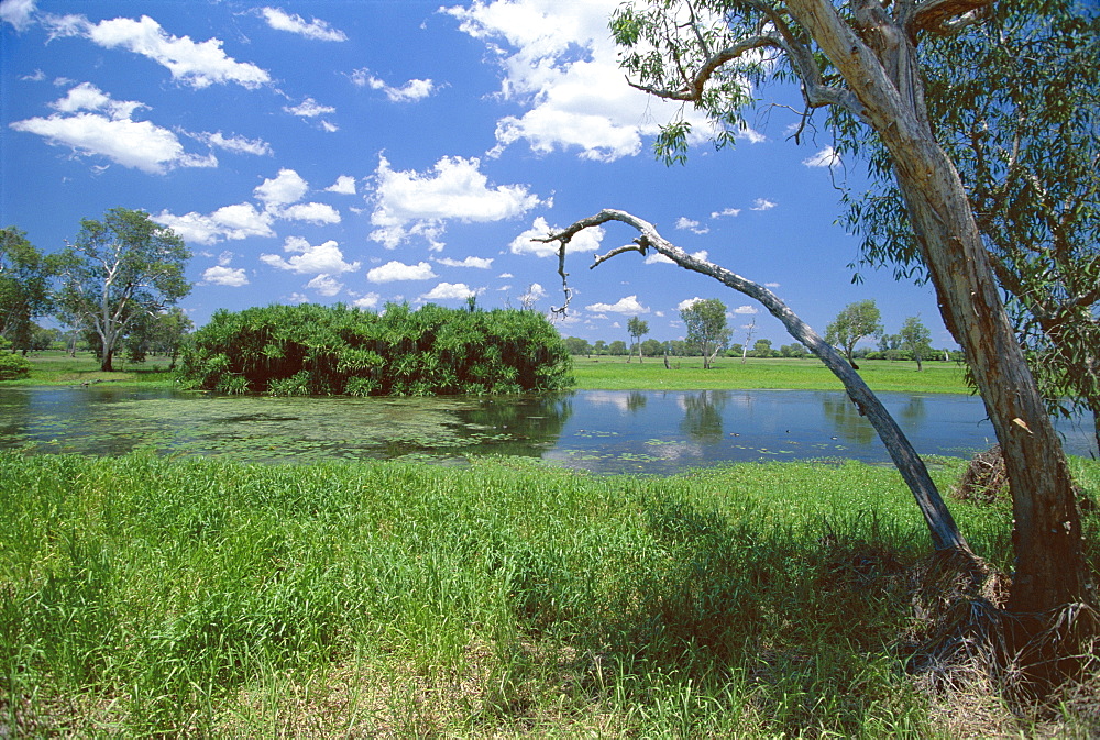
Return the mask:
<path id="1" fill-rule="evenodd" d="M 497 121 L 491 154 L 524 140 L 540 154 L 579 150 L 581 157 L 609 162 L 638 154 L 642 136 L 680 114 L 693 124 L 692 143 L 706 139 L 712 126 L 705 117 L 627 85 L 607 31 L 617 5 L 618 0 L 476 0 L 442 9 L 499 59 L 499 97 L 527 108 Z"/>

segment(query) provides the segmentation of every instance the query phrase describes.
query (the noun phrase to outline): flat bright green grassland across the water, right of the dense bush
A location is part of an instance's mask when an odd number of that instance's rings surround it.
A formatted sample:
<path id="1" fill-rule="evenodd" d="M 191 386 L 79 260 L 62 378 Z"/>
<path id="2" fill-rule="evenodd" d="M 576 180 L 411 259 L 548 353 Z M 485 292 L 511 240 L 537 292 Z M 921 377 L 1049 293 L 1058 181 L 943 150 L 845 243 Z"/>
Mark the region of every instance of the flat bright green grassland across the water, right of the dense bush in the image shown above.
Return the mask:
<path id="1" fill-rule="evenodd" d="M 646 357 L 639 363 L 626 357 L 573 357 L 576 387 L 601 390 L 719 390 L 783 389 L 844 390 L 835 375 L 816 357 L 806 360 L 759 360 L 721 357 L 711 369 L 703 369 L 702 357 L 672 357 L 672 368 L 661 357 Z M 871 390 L 910 393 L 970 393 L 963 366 L 954 362 L 926 362 L 916 371 L 915 362 L 866 360 L 859 374 Z"/>

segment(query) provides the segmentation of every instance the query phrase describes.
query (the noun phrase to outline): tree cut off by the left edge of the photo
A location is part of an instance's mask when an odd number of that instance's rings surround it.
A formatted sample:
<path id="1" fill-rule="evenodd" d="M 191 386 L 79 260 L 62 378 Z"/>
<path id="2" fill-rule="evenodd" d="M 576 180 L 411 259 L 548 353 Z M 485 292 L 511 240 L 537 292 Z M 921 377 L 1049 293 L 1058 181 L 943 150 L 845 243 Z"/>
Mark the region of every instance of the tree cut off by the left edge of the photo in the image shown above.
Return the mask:
<path id="1" fill-rule="evenodd" d="M 24 354 L 33 341 L 34 319 L 50 312 L 53 261 L 14 227 L 0 230 L 0 335 Z"/>

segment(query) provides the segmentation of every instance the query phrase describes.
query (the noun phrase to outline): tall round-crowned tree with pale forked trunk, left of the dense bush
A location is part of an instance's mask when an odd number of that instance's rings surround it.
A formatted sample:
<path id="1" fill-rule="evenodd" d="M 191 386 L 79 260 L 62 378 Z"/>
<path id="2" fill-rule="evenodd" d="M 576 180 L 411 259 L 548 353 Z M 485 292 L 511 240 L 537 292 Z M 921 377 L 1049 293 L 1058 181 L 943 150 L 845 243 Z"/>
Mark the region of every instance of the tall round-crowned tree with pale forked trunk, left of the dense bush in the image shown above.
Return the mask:
<path id="1" fill-rule="evenodd" d="M 190 256 L 183 239 L 144 211 L 112 208 L 102 221 L 80 222 L 76 243 L 62 254 L 58 303 L 99 338 L 102 371 L 113 369 L 131 324 L 190 292 Z"/>

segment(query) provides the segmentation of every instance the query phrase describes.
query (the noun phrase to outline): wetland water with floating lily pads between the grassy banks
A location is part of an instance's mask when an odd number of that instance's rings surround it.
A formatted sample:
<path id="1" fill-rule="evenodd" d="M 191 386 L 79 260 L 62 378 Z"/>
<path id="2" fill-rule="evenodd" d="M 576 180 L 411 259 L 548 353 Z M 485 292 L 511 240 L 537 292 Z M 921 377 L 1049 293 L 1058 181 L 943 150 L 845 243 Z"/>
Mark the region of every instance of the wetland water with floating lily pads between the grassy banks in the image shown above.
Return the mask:
<path id="1" fill-rule="evenodd" d="M 993 442 L 971 396 L 882 394 L 922 455 Z M 1090 423 L 1090 421 L 1089 421 Z M 1088 424 L 1059 423 L 1089 455 Z M 597 473 L 671 474 L 755 460 L 888 463 L 843 393 L 579 390 L 549 397 L 266 398 L 108 386 L 0 389 L 0 448 L 116 455 L 139 448 L 248 462 L 541 457 Z"/>

